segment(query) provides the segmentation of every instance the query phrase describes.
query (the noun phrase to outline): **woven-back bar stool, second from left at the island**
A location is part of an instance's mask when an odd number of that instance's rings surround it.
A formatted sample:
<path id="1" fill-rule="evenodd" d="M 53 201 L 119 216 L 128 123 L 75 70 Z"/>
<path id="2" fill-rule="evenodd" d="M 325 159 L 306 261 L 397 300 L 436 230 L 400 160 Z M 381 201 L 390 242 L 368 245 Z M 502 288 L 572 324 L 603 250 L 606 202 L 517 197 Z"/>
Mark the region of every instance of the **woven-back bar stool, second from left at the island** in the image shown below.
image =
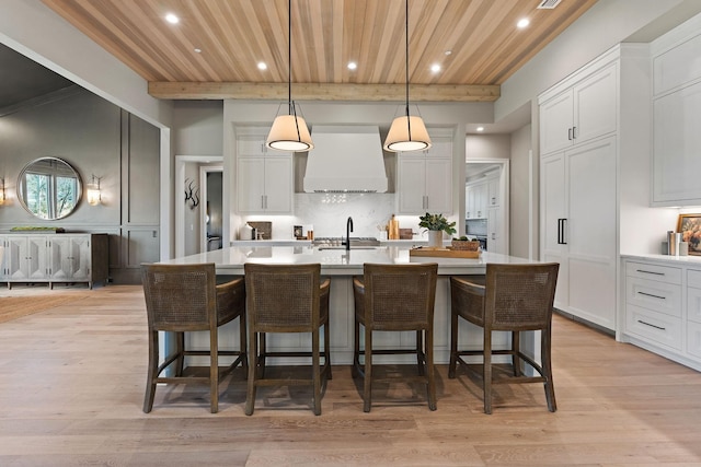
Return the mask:
<path id="1" fill-rule="evenodd" d="M 253 413 L 258 386 L 311 386 L 314 415 L 321 415 L 322 387 L 331 380 L 329 289 L 321 281 L 321 265 L 257 265 L 246 262 L 246 311 L 249 315 L 249 388 L 245 413 Z M 321 351 L 320 328 L 324 349 Z M 271 352 L 267 332 L 311 332 L 311 351 Z M 265 360 L 272 357 L 311 357 L 309 378 L 265 377 Z M 321 358 L 324 359 L 321 367 Z"/>

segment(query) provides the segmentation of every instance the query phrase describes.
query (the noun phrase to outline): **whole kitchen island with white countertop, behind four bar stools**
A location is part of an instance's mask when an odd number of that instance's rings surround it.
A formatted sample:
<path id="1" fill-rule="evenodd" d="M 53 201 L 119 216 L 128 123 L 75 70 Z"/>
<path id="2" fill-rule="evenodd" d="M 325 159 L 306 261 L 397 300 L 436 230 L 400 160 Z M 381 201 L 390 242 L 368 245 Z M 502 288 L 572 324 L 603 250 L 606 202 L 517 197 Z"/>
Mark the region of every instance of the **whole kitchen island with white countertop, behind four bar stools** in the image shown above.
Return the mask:
<path id="1" fill-rule="evenodd" d="M 353 362 L 353 329 L 354 329 L 354 301 L 353 276 L 363 275 L 365 262 L 378 262 L 386 265 L 402 265 L 410 262 L 437 262 L 438 283 L 436 285 L 436 305 L 434 317 L 434 353 L 436 363 L 448 363 L 450 357 L 450 276 L 484 275 L 489 262 L 528 264 L 538 262 L 524 258 L 516 258 L 494 253 L 483 253 L 479 258 L 443 258 L 443 257 L 415 257 L 410 256 L 411 245 L 405 246 L 379 246 L 352 248 L 319 248 L 309 244 L 299 246 L 242 246 L 228 247 L 214 252 L 189 255 L 182 258 L 162 261 L 171 265 L 187 265 L 198 262 L 214 262 L 217 275 L 222 277 L 243 276 L 245 262 L 256 264 L 285 264 L 321 265 L 322 276 L 331 278 L 331 351 L 333 364 L 350 364 Z M 238 348 L 237 336 L 238 322 L 226 325 L 220 331 L 221 347 Z M 482 345 L 480 328 L 461 324 L 460 341 L 474 342 L 474 348 Z M 412 348 L 415 332 L 376 332 L 374 339 L 378 346 L 399 346 Z M 508 343 L 507 332 L 497 332 L 494 336 L 495 346 Z M 207 346 L 206 334 L 194 337 L 196 346 Z M 309 339 L 303 335 L 275 335 L 268 337 L 268 345 L 274 350 L 308 350 L 306 342 Z M 521 339 L 525 350 L 532 351 L 532 340 Z M 382 357 L 383 359 L 380 359 Z M 535 357 L 538 357 L 537 354 Z M 378 355 L 380 362 L 405 363 L 411 362 L 411 355 Z M 414 358 L 415 360 L 415 358 Z M 294 361 L 294 360 L 288 360 Z M 275 361 L 272 361 L 275 364 Z"/>

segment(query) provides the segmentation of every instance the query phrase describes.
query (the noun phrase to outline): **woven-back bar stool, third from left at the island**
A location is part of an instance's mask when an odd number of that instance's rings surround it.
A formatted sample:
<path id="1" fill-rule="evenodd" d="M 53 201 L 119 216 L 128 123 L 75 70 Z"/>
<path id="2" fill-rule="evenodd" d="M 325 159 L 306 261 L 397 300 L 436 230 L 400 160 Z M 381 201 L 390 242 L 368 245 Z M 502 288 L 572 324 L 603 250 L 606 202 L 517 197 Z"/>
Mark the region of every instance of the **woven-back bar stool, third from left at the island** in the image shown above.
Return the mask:
<path id="1" fill-rule="evenodd" d="M 397 381 L 372 375 L 374 354 L 415 353 L 417 376 L 401 376 L 405 382 L 426 384 L 428 408 L 436 410 L 434 376 L 434 303 L 438 265 L 365 264 L 364 277 L 353 279 L 355 299 L 355 352 L 353 376 L 364 378 L 363 410 L 370 411 L 372 382 Z M 365 348 L 360 350 L 360 325 L 365 328 Z M 414 349 L 372 349 L 374 331 L 416 331 Z M 360 364 L 360 355 L 365 357 Z"/>

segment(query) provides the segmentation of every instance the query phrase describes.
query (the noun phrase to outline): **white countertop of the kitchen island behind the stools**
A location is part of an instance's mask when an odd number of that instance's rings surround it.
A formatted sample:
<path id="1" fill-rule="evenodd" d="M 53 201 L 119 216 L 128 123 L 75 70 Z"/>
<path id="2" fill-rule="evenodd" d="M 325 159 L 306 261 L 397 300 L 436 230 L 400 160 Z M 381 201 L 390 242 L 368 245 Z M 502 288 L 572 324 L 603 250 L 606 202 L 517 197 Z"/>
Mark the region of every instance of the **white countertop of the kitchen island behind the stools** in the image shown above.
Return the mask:
<path id="1" fill-rule="evenodd" d="M 265 241 L 256 241 L 261 244 Z M 252 242 L 253 243 L 253 242 Z M 411 242 L 407 242 L 411 243 Z M 244 262 L 257 264 L 285 264 L 302 265 L 310 262 L 321 264 L 322 273 L 325 276 L 353 276 L 363 273 L 365 262 L 378 262 L 384 265 L 401 265 L 409 262 L 437 262 L 438 273 L 451 275 L 479 275 L 484 273 L 487 262 L 528 264 L 524 258 L 483 253 L 479 258 L 441 258 L 441 257 L 410 257 L 411 245 L 406 246 L 380 246 L 372 249 L 319 249 L 310 245 L 299 246 L 239 246 L 217 249 L 214 252 L 189 255 L 162 261 L 170 265 L 186 265 L 199 262 L 214 262 L 217 273 L 243 275 Z"/>

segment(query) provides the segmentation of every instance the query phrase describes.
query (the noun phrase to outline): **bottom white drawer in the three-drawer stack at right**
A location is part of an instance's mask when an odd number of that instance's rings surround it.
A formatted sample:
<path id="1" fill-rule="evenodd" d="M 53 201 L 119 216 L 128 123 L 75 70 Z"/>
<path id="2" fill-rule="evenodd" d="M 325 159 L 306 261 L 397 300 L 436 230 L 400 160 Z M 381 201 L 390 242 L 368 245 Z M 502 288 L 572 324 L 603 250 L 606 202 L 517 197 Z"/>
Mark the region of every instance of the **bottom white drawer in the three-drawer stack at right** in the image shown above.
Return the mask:
<path id="1" fill-rule="evenodd" d="M 681 350 L 681 318 L 628 304 L 625 331 L 646 341 Z"/>

